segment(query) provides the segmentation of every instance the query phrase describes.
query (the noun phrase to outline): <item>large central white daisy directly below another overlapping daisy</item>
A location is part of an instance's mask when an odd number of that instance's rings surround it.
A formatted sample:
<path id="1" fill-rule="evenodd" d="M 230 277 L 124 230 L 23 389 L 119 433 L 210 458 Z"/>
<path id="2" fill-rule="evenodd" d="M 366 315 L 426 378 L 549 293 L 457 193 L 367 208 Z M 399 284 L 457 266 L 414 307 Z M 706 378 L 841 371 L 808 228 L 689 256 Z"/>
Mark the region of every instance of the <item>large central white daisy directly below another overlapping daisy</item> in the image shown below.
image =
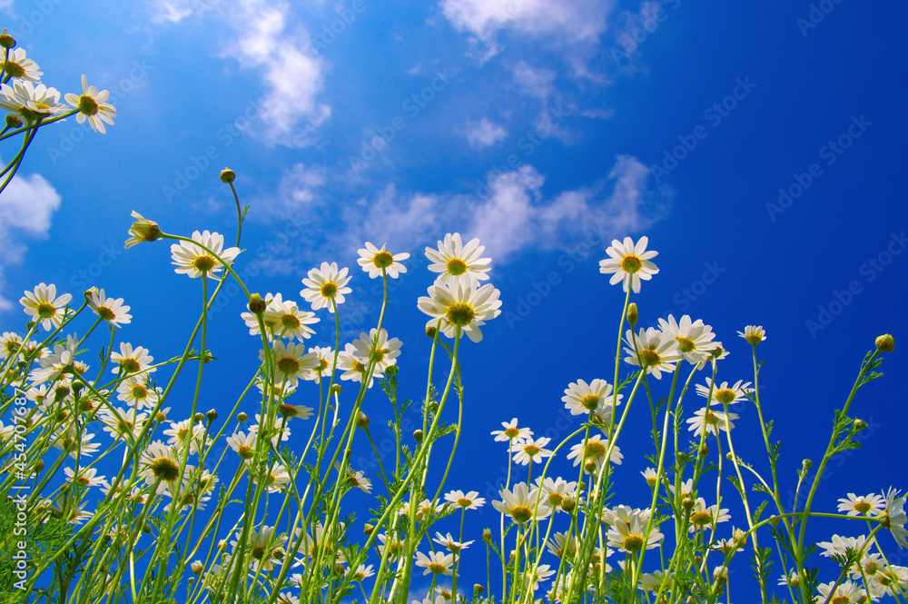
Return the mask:
<path id="1" fill-rule="evenodd" d="M 500 293 L 490 283 L 479 287 L 473 279 L 451 280 L 430 285 L 429 297 L 420 297 L 417 304 L 420 311 L 433 318 L 429 321 L 431 326 L 436 324 L 434 319 L 441 319 L 441 332 L 449 338 L 454 337 L 459 323 L 461 335 L 466 333 L 471 341 L 479 342 L 479 327 L 501 314 Z"/>

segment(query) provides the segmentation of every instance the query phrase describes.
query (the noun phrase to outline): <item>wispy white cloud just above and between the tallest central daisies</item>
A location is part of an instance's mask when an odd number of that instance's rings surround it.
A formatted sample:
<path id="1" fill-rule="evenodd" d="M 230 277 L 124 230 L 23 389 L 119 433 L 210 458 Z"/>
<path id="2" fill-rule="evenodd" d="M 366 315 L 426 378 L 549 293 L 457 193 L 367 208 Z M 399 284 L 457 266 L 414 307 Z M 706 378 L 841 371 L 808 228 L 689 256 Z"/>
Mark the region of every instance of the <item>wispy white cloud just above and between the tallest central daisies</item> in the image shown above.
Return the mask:
<path id="1" fill-rule="evenodd" d="M 607 178 L 546 200 L 545 179 L 531 166 L 499 173 L 489 178 L 488 199 L 472 209 L 467 232 L 498 262 L 530 248 L 565 248 L 588 234 L 606 240 L 639 233 L 666 214 L 672 194 L 649 188 L 648 175 L 636 157 L 618 155 Z"/>

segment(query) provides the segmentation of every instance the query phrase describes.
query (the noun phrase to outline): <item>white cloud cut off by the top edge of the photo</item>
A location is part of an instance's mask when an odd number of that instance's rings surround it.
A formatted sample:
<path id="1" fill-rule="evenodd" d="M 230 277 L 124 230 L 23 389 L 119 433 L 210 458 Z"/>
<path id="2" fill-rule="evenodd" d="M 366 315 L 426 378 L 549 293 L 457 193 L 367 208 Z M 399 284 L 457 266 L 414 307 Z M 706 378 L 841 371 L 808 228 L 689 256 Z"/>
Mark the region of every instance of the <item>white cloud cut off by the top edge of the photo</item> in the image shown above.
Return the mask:
<path id="1" fill-rule="evenodd" d="M 499 29 L 595 40 L 606 31 L 614 0 L 443 0 L 444 15 L 460 31 L 491 43 Z"/>

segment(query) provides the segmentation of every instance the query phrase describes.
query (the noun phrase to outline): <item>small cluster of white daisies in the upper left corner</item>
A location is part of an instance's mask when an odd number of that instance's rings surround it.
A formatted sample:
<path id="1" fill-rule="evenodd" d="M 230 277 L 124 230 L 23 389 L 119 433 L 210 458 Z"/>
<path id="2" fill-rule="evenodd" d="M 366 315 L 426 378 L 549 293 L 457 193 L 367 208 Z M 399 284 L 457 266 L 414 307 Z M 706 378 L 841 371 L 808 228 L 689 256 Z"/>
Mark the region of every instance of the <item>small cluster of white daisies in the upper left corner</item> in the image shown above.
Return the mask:
<path id="1" fill-rule="evenodd" d="M 67 104 L 60 103 L 60 93 L 41 83 L 38 64 L 25 55 L 25 48 L 14 48 L 15 39 L 0 35 L 0 47 L 4 56 L 0 58 L 0 107 L 9 112 L 6 128 L 31 127 L 53 117 L 76 114 L 79 124 L 87 119 L 95 132 L 104 134 L 104 124 L 114 124 L 116 109 L 105 103 L 110 98 L 107 90 L 98 91 L 88 85 L 82 76 L 82 94 L 64 94 Z"/>

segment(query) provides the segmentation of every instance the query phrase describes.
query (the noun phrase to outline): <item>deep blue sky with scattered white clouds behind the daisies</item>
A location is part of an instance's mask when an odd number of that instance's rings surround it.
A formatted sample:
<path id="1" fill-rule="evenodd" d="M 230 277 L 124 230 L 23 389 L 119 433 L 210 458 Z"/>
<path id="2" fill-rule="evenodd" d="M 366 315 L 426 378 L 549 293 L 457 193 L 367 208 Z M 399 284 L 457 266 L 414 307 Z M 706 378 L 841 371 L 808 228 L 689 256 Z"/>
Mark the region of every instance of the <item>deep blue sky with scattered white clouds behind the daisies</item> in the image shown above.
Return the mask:
<path id="1" fill-rule="evenodd" d="M 558 432 L 569 382 L 611 381 L 623 293 L 597 262 L 613 237 L 646 234 L 660 272 L 635 296 L 643 325 L 703 319 L 732 352 L 727 381 L 753 379 L 735 332 L 765 326 L 784 491 L 821 454 L 873 338 L 893 333 L 887 375 L 853 408 L 870 424 L 866 447 L 834 462 L 819 497 L 832 510 L 847 492 L 906 488 L 906 13 L 854 0 L 6 2 L 5 26 L 44 83 L 76 92 L 86 74 L 112 91 L 117 118 L 106 135 L 72 119 L 43 130 L 0 196 L 0 329 L 23 331 L 16 301 L 38 282 L 74 297 L 97 285 L 132 306 L 126 341 L 176 354 L 183 336 L 160 335 L 188 333 L 198 282 L 173 274 L 162 243 L 124 251 L 129 213 L 168 233 L 234 233 L 218 180 L 230 167 L 252 206 L 237 261 L 250 289 L 299 300 L 310 268 L 350 266 L 347 341 L 380 303 L 356 249 L 412 254 L 386 325 L 419 398 L 429 341 L 416 300 L 432 280 L 421 252 L 445 233 L 477 236 L 503 314 L 463 347 L 466 428 L 449 487 L 486 495 L 506 460 L 489 431 L 517 416 Z M 206 406 L 258 354 L 242 301 L 226 302 Z M 373 425 L 382 403 L 367 400 Z M 753 411 L 735 433 L 765 468 Z M 647 422 L 632 418 L 640 442 L 619 443 L 622 502 L 637 506 Z M 493 516 L 477 516 L 477 536 Z"/>

